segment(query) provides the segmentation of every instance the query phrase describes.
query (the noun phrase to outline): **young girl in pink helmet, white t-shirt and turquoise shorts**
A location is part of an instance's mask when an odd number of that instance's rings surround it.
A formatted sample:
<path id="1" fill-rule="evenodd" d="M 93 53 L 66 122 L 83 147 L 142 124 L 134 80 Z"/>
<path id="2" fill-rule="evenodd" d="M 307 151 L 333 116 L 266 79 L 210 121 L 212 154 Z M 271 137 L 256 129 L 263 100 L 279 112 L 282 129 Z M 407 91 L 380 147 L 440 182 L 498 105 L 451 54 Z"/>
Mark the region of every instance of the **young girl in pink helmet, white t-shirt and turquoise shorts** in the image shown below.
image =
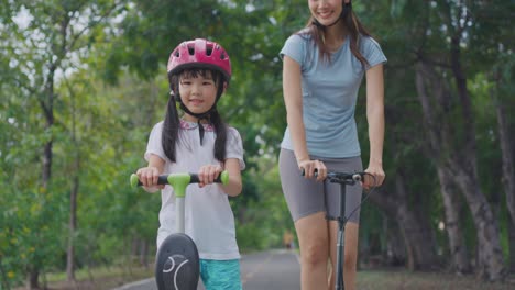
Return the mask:
<path id="1" fill-rule="evenodd" d="M 217 111 L 231 78 L 229 55 L 215 42 L 187 41 L 173 51 L 167 72 L 172 92 L 166 115 L 151 132 L 144 155 L 149 166 L 136 171 L 147 191 L 162 189 L 157 247 L 176 232 L 174 190 L 157 186 L 158 176 L 198 172 L 200 182 L 189 186 L 186 194 L 185 230 L 198 248 L 200 277 L 208 290 L 241 289 L 228 197 L 237 197 L 242 189 L 243 147 L 238 131 L 227 126 Z M 180 118 L 176 102 L 184 111 Z M 229 182 L 213 183 L 223 170 Z"/>

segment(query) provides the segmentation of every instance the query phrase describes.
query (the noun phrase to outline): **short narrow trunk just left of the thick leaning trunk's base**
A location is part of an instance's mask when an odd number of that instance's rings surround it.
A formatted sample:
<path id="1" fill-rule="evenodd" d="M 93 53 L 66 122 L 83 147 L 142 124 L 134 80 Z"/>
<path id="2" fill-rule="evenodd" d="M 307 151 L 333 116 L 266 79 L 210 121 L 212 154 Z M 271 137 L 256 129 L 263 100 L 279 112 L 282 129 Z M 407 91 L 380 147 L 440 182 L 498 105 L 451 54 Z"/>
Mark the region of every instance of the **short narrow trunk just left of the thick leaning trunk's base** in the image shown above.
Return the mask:
<path id="1" fill-rule="evenodd" d="M 460 224 L 460 201 L 452 188 L 451 175 L 439 166 L 437 168 L 440 179 L 441 196 L 446 214 L 446 231 L 449 237 L 449 254 L 451 270 L 458 274 L 471 272 L 471 265 L 467 245 Z"/>

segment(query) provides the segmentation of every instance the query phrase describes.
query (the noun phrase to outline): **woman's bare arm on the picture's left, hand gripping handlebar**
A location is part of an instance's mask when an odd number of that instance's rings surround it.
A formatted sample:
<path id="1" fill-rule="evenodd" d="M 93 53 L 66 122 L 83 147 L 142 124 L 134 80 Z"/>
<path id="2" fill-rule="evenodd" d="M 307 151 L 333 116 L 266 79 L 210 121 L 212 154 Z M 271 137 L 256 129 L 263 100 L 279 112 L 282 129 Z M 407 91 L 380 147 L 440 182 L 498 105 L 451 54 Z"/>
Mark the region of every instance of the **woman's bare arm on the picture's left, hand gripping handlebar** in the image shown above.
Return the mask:
<path id="1" fill-rule="evenodd" d="M 303 94 L 300 89 L 300 65 L 288 56 L 283 59 L 283 94 L 286 105 L 286 121 L 289 127 L 295 158 L 299 168 L 305 169 L 306 178 L 314 176 L 318 170 L 318 180 L 326 177 L 324 163 L 311 160 L 306 145 L 306 131 L 303 120 Z"/>

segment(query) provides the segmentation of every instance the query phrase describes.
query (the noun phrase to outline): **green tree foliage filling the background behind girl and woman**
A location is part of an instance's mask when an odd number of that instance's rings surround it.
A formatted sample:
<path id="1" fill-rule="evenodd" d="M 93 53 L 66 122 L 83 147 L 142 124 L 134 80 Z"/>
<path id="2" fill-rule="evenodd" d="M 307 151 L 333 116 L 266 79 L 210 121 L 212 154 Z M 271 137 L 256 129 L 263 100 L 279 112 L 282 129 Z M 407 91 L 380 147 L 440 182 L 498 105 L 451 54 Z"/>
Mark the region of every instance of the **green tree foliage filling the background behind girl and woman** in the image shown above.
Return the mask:
<path id="1" fill-rule="evenodd" d="M 515 8 L 508 0 L 495 5 L 465 2 L 472 19 L 460 47 L 475 116 L 479 175 L 500 176 L 495 102 L 508 112 L 515 108 L 508 22 Z M 456 90 L 448 55 L 461 21 L 458 2 L 357 1 L 353 7 L 388 58 L 384 187 L 395 190 L 395 176 L 403 172 L 413 192 L 408 203 L 436 227 L 443 220 L 443 209 L 414 64 L 431 62 L 448 89 Z M 145 165 L 149 132 L 164 116 L 169 53 L 195 37 L 221 43 L 231 57 L 233 78 L 219 110 L 240 131 L 245 148 L 243 193 L 230 200 L 240 248 L 281 246 L 284 231 L 294 232 L 294 227 L 276 166 L 286 125 L 278 52 L 286 37 L 305 25 L 308 13 L 305 0 L 2 0 L 0 279 L 7 277 L 12 287 L 25 279 L 31 265 L 40 265 L 42 272 L 64 269 L 75 177 L 78 208 L 73 237 L 79 267 L 120 260 L 132 254 L 135 239 L 149 242 L 151 253 L 155 250 L 160 196 L 132 190 L 128 177 Z M 63 34 L 65 23 L 69 25 Z M 452 113 L 437 125 L 465 122 L 452 97 L 448 100 Z M 54 123 L 45 129 L 44 108 L 51 107 Z M 365 109 L 363 86 L 355 115 L 364 166 L 369 154 Z M 507 122 L 509 129 L 515 126 L 513 115 Z M 456 127 L 454 144 L 460 144 L 465 132 Z M 45 189 L 42 152 L 50 141 L 53 168 Z M 506 221 L 500 178 L 482 179 L 481 187 L 489 201 L 502 209 L 498 220 Z M 387 217 L 379 210 L 364 205 L 362 235 L 381 237 Z M 465 241 L 473 248 L 475 228 L 467 209 L 462 215 Z M 507 253 L 507 227 L 505 222 L 501 225 Z M 383 249 L 385 243 L 381 241 Z M 439 243 L 446 248 L 445 236 L 439 236 Z"/>

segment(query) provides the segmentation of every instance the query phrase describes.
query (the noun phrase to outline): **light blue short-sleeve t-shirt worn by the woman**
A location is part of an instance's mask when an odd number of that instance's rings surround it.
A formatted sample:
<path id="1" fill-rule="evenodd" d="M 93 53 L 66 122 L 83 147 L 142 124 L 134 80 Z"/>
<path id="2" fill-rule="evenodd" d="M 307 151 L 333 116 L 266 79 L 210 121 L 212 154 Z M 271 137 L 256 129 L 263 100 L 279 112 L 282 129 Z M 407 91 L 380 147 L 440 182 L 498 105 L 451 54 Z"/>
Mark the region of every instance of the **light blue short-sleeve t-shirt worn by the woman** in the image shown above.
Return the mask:
<path id="1" fill-rule="evenodd" d="M 349 37 L 331 54 L 331 62 L 319 57 L 311 36 L 294 34 L 286 40 L 280 55 L 300 65 L 303 120 L 308 153 L 327 158 L 360 156 L 360 144 L 354 120 L 358 91 L 365 70 L 384 64 L 380 45 L 369 36 L 359 38 L 359 47 L 369 65 L 363 67 L 352 54 Z M 282 148 L 292 149 L 289 129 L 286 127 Z"/>

